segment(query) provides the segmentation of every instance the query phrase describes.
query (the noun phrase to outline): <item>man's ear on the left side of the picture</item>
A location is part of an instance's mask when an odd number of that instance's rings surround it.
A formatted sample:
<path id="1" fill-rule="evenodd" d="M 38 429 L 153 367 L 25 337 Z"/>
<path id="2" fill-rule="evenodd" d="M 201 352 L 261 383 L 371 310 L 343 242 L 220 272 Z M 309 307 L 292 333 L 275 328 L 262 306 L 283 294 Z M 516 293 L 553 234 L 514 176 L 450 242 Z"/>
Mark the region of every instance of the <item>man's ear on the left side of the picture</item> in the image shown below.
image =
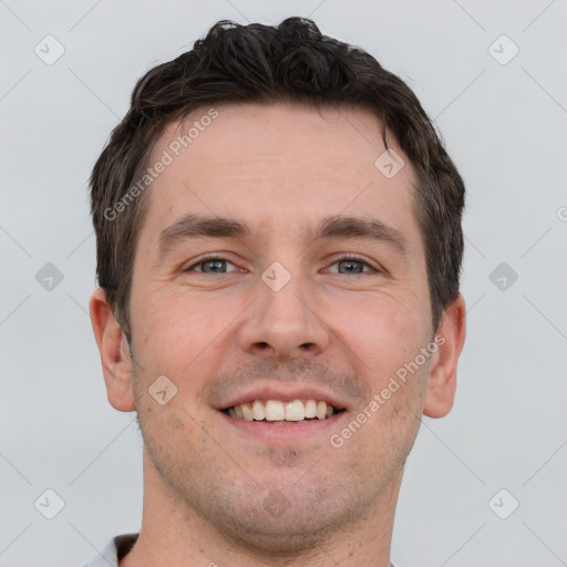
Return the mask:
<path id="1" fill-rule="evenodd" d="M 99 288 L 94 291 L 89 309 L 101 353 L 109 402 L 121 412 L 132 412 L 136 409 L 132 389 L 134 364 L 130 357 L 126 337 L 114 318 L 103 289 Z"/>

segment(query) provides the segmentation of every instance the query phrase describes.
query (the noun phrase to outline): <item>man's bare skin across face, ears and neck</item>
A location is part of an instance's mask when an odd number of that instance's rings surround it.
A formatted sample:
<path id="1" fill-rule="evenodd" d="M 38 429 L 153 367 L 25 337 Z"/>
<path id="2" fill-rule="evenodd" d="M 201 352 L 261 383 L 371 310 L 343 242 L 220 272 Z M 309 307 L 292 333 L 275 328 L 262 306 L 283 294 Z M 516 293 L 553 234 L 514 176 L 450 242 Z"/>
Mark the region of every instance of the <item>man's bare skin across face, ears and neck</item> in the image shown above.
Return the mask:
<path id="1" fill-rule="evenodd" d="M 432 329 L 414 173 L 391 135 L 405 166 L 391 179 L 374 166 L 384 145 L 373 114 L 285 104 L 217 110 L 151 186 L 134 262 L 131 351 L 102 290 L 91 299 L 109 401 L 137 412 L 145 442 L 143 524 L 121 565 L 385 567 L 421 416 L 442 417 L 453 404 L 464 300 Z M 163 134 L 155 161 L 181 127 Z M 159 258 L 159 234 L 189 213 L 239 220 L 250 236 L 187 238 Z M 332 215 L 396 228 L 406 254 L 370 239 L 305 238 L 307 225 Z M 220 262 L 226 272 L 204 272 L 208 252 L 228 260 Z M 368 267 L 340 274 L 344 254 Z M 291 276 L 279 291 L 261 279 L 275 261 Z M 444 339 L 439 350 L 333 447 L 330 434 L 435 331 Z M 147 391 L 159 375 L 177 388 L 164 405 Z M 255 384 L 321 386 L 347 411 L 323 433 L 269 443 L 217 410 Z M 274 494 L 287 503 L 279 516 L 265 505 Z"/>

